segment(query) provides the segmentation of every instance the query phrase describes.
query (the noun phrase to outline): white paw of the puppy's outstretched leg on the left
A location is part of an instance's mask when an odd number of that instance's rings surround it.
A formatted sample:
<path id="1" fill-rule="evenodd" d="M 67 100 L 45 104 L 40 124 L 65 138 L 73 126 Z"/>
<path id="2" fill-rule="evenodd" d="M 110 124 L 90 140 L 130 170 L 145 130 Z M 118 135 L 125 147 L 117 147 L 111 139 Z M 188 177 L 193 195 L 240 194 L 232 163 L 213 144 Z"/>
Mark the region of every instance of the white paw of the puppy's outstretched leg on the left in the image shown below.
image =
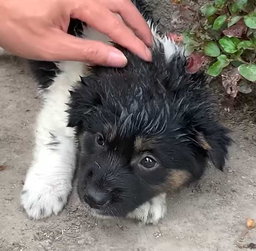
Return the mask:
<path id="1" fill-rule="evenodd" d="M 44 179 L 34 179 L 33 182 L 29 179 L 25 182 L 21 194 L 21 204 L 29 218 L 46 218 L 62 211 L 70 191 L 71 184 L 54 186 L 54 184 L 47 184 Z"/>

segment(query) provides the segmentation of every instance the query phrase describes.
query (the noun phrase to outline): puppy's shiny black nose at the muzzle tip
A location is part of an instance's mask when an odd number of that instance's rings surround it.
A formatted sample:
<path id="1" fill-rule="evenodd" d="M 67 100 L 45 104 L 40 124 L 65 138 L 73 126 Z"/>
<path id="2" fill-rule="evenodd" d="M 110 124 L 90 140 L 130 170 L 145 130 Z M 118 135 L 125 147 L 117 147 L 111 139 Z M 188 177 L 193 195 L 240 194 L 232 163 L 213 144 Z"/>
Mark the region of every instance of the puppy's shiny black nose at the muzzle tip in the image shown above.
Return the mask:
<path id="1" fill-rule="evenodd" d="M 85 193 L 84 200 L 91 208 L 98 209 L 107 203 L 108 196 L 104 191 L 88 189 L 87 193 Z"/>

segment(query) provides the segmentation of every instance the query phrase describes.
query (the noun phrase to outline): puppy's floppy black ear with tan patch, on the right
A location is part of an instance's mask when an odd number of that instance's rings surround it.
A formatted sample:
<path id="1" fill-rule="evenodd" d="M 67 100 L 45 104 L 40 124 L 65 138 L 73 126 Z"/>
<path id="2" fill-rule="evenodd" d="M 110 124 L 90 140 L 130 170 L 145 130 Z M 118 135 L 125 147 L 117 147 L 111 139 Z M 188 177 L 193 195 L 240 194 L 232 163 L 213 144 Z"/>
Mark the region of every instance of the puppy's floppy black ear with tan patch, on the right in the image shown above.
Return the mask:
<path id="1" fill-rule="evenodd" d="M 216 168 L 222 170 L 228 155 L 228 147 L 232 139 L 229 137 L 230 130 L 222 125 L 216 125 L 197 132 L 198 144 L 207 152 L 210 160 Z"/>

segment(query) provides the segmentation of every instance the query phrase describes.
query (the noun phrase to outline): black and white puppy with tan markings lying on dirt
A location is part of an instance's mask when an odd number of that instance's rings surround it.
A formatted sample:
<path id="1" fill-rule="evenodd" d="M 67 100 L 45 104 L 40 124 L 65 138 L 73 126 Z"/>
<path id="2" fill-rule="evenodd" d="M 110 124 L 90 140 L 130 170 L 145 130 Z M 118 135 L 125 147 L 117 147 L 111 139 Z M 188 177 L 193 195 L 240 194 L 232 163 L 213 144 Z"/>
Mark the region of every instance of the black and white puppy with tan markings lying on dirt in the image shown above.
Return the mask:
<path id="1" fill-rule="evenodd" d="M 96 31 L 84 33 L 94 39 Z M 151 63 L 120 47 L 123 69 L 33 63 L 45 91 L 22 192 L 29 217 L 62 210 L 76 165 L 78 194 L 92 215 L 145 223 L 164 216 L 166 193 L 198 180 L 208 159 L 222 169 L 231 139 L 204 74 L 188 74 L 183 49 L 152 34 Z"/>

